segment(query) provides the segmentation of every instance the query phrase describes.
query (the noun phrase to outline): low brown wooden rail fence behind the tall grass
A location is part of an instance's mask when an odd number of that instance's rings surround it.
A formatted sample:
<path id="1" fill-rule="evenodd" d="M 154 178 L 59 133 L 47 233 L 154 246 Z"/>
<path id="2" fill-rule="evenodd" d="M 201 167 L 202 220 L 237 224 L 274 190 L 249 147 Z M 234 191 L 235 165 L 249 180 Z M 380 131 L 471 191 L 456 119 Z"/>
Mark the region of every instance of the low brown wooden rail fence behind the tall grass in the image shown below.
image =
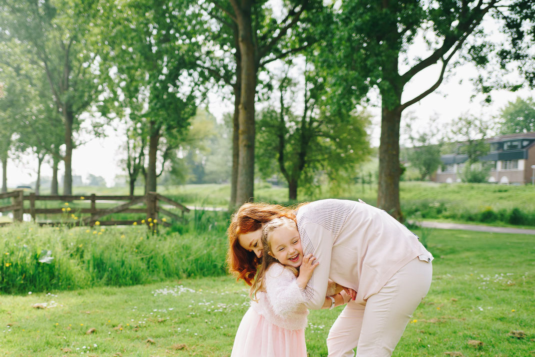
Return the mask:
<path id="1" fill-rule="evenodd" d="M 73 223 L 74 225 L 80 226 L 93 226 L 95 225 L 96 221 L 99 221 L 99 224 L 102 226 L 114 226 L 114 225 L 132 225 L 134 222 L 140 223 L 142 220 L 108 220 L 108 221 L 101 221 L 99 220 L 102 217 L 105 217 L 106 215 L 111 215 L 114 213 L 144 213 L 146 217 L 144 217 L 144 224 L 150 224 L 150 222 L 154 222 L 154 220 L 157 221 L 158 224 L 163 224 L 165 226 L 170 226 L 169 222 L 163 221 L 159 219 L 159 216 L 161 214 L 166 215 L 167 217 L 171 218 L 172 220 L 182 220 L 184 219 L 184 213 L 189 212 L 189 209 L 178 203 L 173 201 L 170 198 L 167 198 L 165 196 L 162 196 L 158 194 L 157 192 L 149 192 L 148 194 L 144 196 L 97 196 L 95 194 L 91 194 L 89 196 L 74 196 L 74 195 L 68 195 L 68 196 L 60 196 L 60 195 L 36 195 L 33 192 L 30 192 L 28 195 L 24 194 L 24 190 L 14 190 L 12 192 L 5 192 L 4 194 L 0 194 L 0 199 L 4 198 L 11 198 L 11 204 L 0 206 L 0 212 L 13 212 L 13 221 L 22 221 L 23 214 L 29 213 L 32 217 L 32 220 L 37 222 L 40 225 L 60 225 L 65 224 L 65 220 L 61 221 L 37 221 L 36 216 L 37 214 L 86 214 L 85 217 L 80 217 L 79 219 L 75 220 L 74 222 L 71 222 L 72 220 L 68 220 L 69 223 Z M 29 201 L 29 207 L 25 208 L 24 202 Z M 89 201 L 90 207 L 89 208 L 80 208 L 80 207 L 70 207 L 70 206 L 62 206 L 62 207 L 56 207 L 56 208 L 37 208 L 35 207 L 35 203 L 37 201 L 60 201 L 63 203 L 71 203 L 73 201 Z M 117 206 L 105 208 L 105 209 L 97 209 L 97 201 L 108 201 L 106 203 L 117 203 L 117 201 L 127 201 L 125 203 L 119 204 Z M 160 202 L 164 202 L 167 206 L 173 206 L 178 208 L 181 211 L 181 215 L 175 214 L 173 212 L 170 212 L 169 210 L 166 210 L 162 207 Z M 132 206 L 144 204 L 145 207 L 143 208 L 132 208 Z M 27 205 L 28 206 L 28 205 Z M 67 211 L 68 210 L 68 211 Z M 150 220 L 149 220 L 150 218 Z"/>

